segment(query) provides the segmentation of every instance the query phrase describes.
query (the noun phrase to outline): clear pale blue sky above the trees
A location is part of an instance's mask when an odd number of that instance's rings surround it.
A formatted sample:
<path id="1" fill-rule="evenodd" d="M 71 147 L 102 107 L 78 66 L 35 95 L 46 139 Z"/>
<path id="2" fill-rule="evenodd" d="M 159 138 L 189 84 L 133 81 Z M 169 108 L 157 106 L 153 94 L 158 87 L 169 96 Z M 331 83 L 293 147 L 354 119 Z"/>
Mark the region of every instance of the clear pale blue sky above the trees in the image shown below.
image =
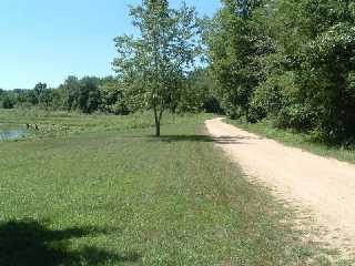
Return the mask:
<path id="1" fill-rule="evenodd" d="M 113 74 L 113 38 L 132 33 L 141 0 L 0 0 L 0 88 L 59 85 L 68 75 Z M 180 0 L 170 1 L 178 7 Z M 212 16 L 219 0 L 185 0 Z"/>

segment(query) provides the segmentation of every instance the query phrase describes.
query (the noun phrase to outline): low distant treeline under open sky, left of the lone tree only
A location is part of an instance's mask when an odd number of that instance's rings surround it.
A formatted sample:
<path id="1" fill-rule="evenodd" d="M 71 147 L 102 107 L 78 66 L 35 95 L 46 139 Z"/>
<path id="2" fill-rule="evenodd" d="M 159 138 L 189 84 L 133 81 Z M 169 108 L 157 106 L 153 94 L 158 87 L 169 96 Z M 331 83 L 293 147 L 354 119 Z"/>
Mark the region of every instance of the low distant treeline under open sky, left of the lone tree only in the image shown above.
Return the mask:
<path id="1" fill-rule="evenodd" d="M 0 91 L 0 103 L 3 109 L 41 108 L 45 110 L 97 111 L 125 114 L 128 109 L 122 100 L 122 88 L 116 79 L 69 76 L 59 88 L 48 88 L 38 83 L 31 90 Z"/>

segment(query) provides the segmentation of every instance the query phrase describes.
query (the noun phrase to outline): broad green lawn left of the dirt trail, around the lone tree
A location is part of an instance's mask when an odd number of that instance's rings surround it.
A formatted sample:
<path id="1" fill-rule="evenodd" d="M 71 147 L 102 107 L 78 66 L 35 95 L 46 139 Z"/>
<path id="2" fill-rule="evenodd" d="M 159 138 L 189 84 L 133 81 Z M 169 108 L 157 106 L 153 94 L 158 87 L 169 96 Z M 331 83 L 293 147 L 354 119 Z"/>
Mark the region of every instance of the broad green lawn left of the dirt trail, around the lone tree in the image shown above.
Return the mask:
<path id="1" fill-rule="evenodd" d="M 0 143 L 0 265 L 331 265 L 204 135 L 211 115 L 0 112 L 70 126 Z"/>

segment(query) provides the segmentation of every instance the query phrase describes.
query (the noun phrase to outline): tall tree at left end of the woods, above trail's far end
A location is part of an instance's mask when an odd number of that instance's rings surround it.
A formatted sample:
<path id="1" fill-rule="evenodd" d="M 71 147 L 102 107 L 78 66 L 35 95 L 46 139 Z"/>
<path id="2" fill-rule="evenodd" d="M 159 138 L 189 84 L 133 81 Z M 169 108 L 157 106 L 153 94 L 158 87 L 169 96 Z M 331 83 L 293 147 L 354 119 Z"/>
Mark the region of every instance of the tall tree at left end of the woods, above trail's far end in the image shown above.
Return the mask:
<path id="1" fill-rule="evenodd" d="M 232 117 L 248 116 L 253 90 L 263 79 L 258 58 L 272 44 L 258 21 L 261 0 L 223 0 L 206 32 L 212 76 L 223 109 Z"/>

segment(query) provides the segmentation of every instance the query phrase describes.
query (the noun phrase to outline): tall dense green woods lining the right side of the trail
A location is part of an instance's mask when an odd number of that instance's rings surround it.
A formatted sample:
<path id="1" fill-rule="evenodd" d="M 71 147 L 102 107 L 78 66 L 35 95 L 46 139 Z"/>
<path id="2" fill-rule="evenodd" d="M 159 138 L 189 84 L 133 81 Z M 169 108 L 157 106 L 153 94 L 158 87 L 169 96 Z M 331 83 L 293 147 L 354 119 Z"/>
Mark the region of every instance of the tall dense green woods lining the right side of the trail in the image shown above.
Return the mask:
<path id="1" fill-rule="evenodd" d="M 205 31 L 210 73 L 232 117 L 355 137 L 355 2 L 223 0 Z"/>

